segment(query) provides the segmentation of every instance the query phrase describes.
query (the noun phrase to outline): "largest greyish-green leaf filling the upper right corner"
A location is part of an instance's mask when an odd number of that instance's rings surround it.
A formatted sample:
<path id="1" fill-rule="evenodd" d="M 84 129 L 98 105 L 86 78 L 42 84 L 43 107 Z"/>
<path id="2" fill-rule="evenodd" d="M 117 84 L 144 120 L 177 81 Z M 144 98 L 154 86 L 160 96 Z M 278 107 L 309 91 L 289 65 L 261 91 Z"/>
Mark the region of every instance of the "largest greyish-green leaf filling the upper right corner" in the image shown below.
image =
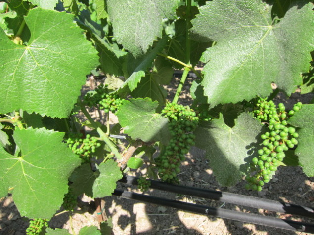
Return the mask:
<path id="1" fill-rule="evenodd" d="M 212 106 L 266 97 L 271 82 L 288 94 L 301 85 L 314 49 L 313 5 L 307 2 L 291 1 L 278 23 L 262 0 L 213 0 L 200 7 L 191 37 L 217 41 L 202 56 L 208 62 L 202 85 Z"/>

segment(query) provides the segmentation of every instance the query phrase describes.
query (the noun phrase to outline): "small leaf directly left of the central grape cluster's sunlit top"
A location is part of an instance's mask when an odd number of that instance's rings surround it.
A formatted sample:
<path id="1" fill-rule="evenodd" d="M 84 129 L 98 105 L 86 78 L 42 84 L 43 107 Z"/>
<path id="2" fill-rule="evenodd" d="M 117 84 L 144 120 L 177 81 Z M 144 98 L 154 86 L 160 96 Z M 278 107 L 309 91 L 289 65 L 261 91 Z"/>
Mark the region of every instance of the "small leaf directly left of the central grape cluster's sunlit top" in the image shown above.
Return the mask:
<path id="1" fill-rule="evenodd" d="M 145 142 L 168 143 L 168 118 L 155 113 L 157 106 L 158 102 L 149 98 L 124 100 L 117 114 L 124 133 Z"/>

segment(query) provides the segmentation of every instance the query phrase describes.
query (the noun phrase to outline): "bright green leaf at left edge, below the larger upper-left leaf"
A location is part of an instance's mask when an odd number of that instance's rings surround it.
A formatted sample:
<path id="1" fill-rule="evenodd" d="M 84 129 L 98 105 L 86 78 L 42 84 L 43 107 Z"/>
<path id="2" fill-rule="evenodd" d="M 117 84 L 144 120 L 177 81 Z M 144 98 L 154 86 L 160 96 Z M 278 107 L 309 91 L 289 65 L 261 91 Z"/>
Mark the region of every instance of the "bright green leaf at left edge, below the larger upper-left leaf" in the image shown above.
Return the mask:
<path id="1" fill-rule="evenodd" d="M 21 216 L 49 219 L 63 203 L 68 177 L 81 163 L 62 143 L 63 136 L 45 128 L 17 129 L 13 138 L 21 157 L 0 148 L 0 195 L 13 188 L 13 200 Z"/>

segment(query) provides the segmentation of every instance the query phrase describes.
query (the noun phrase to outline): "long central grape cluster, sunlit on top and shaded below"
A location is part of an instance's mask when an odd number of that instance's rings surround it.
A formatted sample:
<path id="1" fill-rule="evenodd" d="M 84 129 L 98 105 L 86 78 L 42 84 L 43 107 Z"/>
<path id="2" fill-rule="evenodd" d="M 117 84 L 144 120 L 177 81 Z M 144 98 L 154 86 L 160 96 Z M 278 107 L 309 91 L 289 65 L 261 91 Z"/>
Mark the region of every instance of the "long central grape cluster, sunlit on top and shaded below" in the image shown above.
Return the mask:
<path id="1" fill-rule="evenodd" d="M 171 139 L 163 154 L 155 159 L 159 177 L 163 181 L 177 183 L 180 163 L 185 159 L 190 146 L 195 145 L 193 131 L 198 117 L 188 106 L 167 103 L 162 113 L 169 118 Z"/>

